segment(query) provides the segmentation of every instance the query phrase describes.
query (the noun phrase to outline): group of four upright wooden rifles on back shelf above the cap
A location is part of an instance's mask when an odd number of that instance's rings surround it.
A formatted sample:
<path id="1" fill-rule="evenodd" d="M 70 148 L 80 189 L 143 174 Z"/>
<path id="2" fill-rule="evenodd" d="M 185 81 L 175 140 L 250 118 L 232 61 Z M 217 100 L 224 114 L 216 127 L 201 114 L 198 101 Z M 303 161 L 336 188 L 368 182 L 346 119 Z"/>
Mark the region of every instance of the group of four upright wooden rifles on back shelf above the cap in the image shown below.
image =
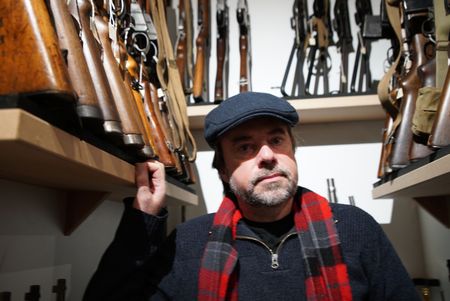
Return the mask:
<path id="1" fill-rule="evenodd" d="M 228 97 L 229 16 L 226 0 L 218 0 L 217 22 L 217 72 L 214 86 L 214 103 Z M 209 59 L 211 40 L 210 0 L 198 1 L 197 36 L 195 38 L 195 62 L 193 55 L 193 29 L 191 0 L 179 0 L 176 60 L 183 81 L 187 102 L 208 103 Z M 240 78 L 239 91 L 251 90 L 250 18 L 246 0 L 238 0 L 236 19 L 239 24 Z"/>

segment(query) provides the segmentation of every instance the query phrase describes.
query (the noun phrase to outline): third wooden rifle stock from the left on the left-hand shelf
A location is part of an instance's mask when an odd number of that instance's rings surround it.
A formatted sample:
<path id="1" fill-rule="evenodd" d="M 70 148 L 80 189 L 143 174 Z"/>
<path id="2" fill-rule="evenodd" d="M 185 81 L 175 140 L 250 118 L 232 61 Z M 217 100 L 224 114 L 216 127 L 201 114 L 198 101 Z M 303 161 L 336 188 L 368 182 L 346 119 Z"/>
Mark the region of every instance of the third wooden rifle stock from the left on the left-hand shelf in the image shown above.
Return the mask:
<path id="1" fill-rule="evenodd" d="M 103 128 L 105 133 L 113 137 L 122 136 L 122 124 L 116 104 L 112 96 L 111 88 L 103 68 L 101 53 L 102 47 L 96 41 L 90 26 L 90 14 L 92 6 L 88 0 L 75 0 L 69 4 L 69 11 L 80 24 L 83 54 L 88 70 L 94 84 L 98 105 L 103 115 Z M 97 16 L 96 18 L 100 18 Z"/>

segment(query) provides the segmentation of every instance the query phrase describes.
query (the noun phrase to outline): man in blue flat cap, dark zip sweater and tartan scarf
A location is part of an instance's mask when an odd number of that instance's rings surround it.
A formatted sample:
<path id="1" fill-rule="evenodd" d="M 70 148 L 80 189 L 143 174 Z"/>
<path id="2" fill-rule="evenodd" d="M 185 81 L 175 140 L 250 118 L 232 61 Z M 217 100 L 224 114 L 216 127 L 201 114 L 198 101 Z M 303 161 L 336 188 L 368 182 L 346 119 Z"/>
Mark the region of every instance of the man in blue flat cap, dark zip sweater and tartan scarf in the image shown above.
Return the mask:
<path id="1" fill-rule="evenodd" d="M 265 93 L 205 119 L 225 196 L 216 214 L 164 238 L 164 167 L 136 167 L 116 237 L 85 300 L 420 300 L 381 227 L 354 206 L 297 187 L 298 122 Z"/>

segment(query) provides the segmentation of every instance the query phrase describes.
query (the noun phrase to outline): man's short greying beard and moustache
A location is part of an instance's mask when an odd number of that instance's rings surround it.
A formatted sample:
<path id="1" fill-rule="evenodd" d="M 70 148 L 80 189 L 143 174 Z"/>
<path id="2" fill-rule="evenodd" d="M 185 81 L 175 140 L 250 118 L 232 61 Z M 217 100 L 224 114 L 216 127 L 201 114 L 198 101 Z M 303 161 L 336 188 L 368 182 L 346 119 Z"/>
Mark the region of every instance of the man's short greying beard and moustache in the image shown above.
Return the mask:
<path id="1" fill-rule="evenodd" d="M 284 179 L 270 183 L 259 183 L 260 179 L 279 173 Z M 256 185 L 259 183 L 258 187 Z M 275 207 L 291 199 L 297 191 L 297 181 L 288 170 L 275 167 L 254 175 L 247 187 L 239 187 L 234 177 L 230 178 L 231 191 L 253 207 Z"/>

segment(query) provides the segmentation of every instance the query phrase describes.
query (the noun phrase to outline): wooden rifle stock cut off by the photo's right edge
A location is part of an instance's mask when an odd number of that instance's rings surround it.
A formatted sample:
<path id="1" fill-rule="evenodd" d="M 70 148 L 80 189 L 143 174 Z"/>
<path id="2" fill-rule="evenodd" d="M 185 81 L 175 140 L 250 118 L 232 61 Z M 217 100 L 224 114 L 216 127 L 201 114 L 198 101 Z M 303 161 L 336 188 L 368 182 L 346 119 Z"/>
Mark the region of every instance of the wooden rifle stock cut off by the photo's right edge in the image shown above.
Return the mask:
<path id="1" fill-rule="evenodd" d="M 450 69 L 449 69 L 450 70 Z M 439 97 L 436 119 L 428 144 L 433 148 L 450 145 L 450 72 L 447 71 L 444 86 Z"/>

